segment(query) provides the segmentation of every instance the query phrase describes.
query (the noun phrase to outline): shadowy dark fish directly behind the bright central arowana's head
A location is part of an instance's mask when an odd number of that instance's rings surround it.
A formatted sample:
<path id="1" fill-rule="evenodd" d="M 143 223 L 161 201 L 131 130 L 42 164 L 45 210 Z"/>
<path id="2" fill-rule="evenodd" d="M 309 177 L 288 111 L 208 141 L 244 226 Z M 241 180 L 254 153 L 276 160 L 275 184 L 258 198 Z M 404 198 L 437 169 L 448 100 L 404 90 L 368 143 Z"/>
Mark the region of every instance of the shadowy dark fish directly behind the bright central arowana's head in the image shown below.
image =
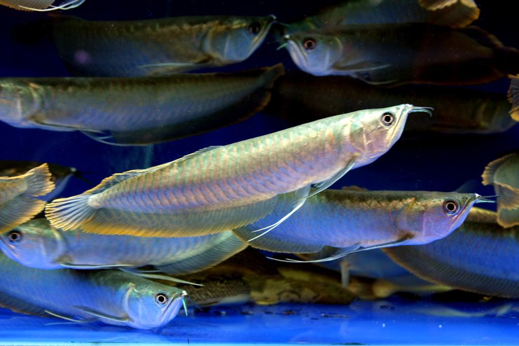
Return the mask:
<path id="1" fill-rule="evenodd" d="M 315 121 L 358 108 L 383 108 L 403 100 L 434 108 L 434 116 L 409 118 L 404 131 L 494 134 L 517 124 L 511 104 L 494 92 L 431 85 L 381 88 L 347 76 L 289 74 L 278 79 L 264 112 L 292 123 Z"/>

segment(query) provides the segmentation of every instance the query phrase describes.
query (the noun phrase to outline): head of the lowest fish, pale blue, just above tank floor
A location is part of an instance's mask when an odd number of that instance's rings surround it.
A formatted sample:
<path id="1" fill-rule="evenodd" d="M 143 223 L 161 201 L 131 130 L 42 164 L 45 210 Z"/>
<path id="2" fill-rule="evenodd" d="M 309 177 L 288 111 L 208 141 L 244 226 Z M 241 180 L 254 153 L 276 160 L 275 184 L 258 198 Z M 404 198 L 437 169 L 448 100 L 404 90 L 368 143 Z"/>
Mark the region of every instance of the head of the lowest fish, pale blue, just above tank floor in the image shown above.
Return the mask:
<path id="1" fill-rule="evenodd" d="M 151 280 L 135 280 L 124 289 L 123 305 L 129 318 L 127 325 L 134 328 L 152 329 L 166 325 L 183 305 L 185 307 L 187 292 L 176 287 Z"/>

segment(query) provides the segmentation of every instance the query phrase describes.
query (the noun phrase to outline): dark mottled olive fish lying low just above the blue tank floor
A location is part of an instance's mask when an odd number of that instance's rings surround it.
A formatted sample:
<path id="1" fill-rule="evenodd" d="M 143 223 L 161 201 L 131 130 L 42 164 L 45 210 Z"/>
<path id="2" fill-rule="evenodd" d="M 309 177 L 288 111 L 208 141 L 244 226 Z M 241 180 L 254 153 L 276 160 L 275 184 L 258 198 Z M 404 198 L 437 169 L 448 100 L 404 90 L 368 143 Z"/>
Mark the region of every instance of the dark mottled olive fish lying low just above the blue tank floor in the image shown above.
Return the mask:
<path id="1" fill-rule="evenodd" d="M 338 275 L 326 275 L 313 265 L 283 267 L 248 248 L 208 270 L 182 276 L 182 280 L 194 280 L 203 286 L 175 285 L 202 307 L 248 301 L 347 304 L 355 298 L 341 286 Z"/>

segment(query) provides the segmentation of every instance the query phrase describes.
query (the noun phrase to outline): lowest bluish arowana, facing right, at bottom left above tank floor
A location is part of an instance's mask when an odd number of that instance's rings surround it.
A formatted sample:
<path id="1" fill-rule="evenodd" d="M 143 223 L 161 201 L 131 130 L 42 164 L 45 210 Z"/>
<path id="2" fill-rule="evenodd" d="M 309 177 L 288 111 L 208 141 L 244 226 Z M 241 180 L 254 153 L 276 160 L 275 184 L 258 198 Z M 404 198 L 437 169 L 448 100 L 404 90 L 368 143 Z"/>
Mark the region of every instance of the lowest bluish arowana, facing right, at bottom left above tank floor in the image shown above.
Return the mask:
<path id="1" fill-rule="evenodd" d="M 27 268 L 0 254 L 0 305 L 75 322 L 151 329 L 169 323 L 186 291 L 119 270 Z"/>

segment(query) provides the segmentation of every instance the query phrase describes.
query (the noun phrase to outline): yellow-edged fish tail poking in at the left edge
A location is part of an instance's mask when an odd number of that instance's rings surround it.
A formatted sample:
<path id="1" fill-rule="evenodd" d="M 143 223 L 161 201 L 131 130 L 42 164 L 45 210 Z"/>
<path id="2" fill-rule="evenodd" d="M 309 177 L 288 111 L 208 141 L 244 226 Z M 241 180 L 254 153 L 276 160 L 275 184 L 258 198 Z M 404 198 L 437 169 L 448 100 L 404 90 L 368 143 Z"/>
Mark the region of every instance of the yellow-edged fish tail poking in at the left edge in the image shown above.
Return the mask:
<path id="1" fill-rule="evenodd" d="M 0 233 L 30 220 L 43 210 L 45 202 L 38 197 L 54 189 L 50 178 L 47 164 L 20 176 L 0 176 Z"/>

